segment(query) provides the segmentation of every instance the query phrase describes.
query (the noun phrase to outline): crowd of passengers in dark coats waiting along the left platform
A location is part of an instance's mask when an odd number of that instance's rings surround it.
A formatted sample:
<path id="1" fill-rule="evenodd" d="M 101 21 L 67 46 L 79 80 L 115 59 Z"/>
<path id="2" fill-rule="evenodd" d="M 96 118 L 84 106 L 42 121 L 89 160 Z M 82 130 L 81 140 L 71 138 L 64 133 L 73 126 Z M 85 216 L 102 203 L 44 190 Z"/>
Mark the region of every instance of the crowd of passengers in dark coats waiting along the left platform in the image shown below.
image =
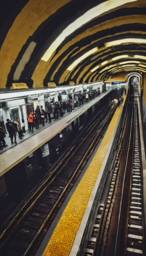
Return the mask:
<path id="1" fill-rule="evenodd" d="M 36 110 L 32 110 L 28 114 L 28 126 L 29 130 L 34 132 L 34 127 L 39 129 L 39 125 L 42 124 L 44 126 L 47 120 L 49 123 L 52 122 L 52 113 L 54 119 L 57 120 L 59 117 L 63 117 L 63 115 L 68 112 L 72 112 L 72 102 L 74 102 L 74 108 L 78 108 L 79 106 L 87 103 L 89 100 L 100 95 L 100 90 L 93 90 L 92 92 L 86 92 L 84 94 L 76 94 L 73 100 L 68 99 L 67 101 L 56 101 L 49 102 L 46 105 L 46 109 L 43 109 L 43 106 L 37 105 Z M 14 122 L 10 119 L 7 119 L 7 123 L 5 125 L 4 121 L 0 121 L 0 150 L 3 147 L 7 147 L 5 137 L 6 134 L 9 134 L 11 143 L 17 144 L 16 135 L 18 135 L 19 139 L 24 136 L 22 131 L 22 127 L 20 124 L 20 120 L 17 118 Z M 13 141 L 14 140 L 14 141 Z"/>

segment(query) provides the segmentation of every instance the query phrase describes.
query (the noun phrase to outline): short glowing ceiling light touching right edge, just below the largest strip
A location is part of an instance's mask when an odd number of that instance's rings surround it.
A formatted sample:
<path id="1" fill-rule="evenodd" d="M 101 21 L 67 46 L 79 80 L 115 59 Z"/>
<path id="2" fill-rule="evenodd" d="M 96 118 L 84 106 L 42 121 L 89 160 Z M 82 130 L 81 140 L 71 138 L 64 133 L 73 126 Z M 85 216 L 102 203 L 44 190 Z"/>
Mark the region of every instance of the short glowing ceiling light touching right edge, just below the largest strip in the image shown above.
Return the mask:
<path id="1" fill-rule="evenodd" d="M 124 39 L 119 39 L 111 42 L 105 42 L 105 47 L 111 47 L 111 46 L 117 46 L 121 44 L 146 44 L 146 39 L 141 39 L 141 38 L 124 38 Z"/>

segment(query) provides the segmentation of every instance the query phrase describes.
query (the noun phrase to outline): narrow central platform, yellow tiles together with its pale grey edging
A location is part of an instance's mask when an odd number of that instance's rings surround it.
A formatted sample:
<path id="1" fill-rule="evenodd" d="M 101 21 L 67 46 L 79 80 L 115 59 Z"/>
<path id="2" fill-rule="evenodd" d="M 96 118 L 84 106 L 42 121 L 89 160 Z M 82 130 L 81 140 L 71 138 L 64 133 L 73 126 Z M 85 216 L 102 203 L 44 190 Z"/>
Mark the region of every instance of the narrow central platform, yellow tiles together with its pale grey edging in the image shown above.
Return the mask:
<path id="1" fill-rule="evenodd" d="M 126 99 L 126 97 L 124 98 Z M 116 109 L 108 130 L 87 167 L 85 174 L 71 197 L 68 195 L 68 203 L 62 212 L 60 220 L 56 223 L 54 231 L 52 231 L 52 236 L 49 236 L 50 230 L 48 230 L 36 256 L 75 256 L 77 254 L 84 232 L 83 229 L 87 222 L 87 216 L 85 216 L 86 211 L 88 211 L 88 215 L 91 210 L 90 198 L 93 197 L 93 188 L 97 180 L 100 179 L 101 168 L 104 161 L 107 160 L 109 145 L 111 145 L 115 135 L 123 106 L 124 104 Z M 95 189 L 97 190 L 97 187 Z M 49 238 L 49 241 L 47 238 Z"/>

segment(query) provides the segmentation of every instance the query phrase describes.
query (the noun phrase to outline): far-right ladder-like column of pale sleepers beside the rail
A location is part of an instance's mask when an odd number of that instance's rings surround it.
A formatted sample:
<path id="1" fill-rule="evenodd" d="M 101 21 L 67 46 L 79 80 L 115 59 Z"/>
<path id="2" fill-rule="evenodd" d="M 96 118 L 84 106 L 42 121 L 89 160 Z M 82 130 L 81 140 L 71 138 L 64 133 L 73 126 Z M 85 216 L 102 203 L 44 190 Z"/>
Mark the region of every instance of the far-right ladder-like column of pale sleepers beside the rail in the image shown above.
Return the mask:
<path id="1" fill-rule="evenodd" d="M 134 147 L 131 173 L 130 205 L 127 229 L 126 255 L 143 254 L 142 191 L 141 191 L 141 149 L 139 137 L 137 97 L 134 98 Z"/>

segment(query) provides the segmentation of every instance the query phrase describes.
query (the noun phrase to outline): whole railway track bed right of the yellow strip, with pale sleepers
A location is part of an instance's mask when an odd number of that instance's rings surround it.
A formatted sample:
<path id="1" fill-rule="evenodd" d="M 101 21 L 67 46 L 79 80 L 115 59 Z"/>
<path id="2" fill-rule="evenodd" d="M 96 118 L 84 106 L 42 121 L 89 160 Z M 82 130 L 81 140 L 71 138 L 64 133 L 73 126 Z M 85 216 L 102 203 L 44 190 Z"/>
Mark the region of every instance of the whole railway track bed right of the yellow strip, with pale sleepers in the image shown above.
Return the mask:
<path id="1" fill-rule="evenodd" d="M 137 97 L 130 95 L 121 126 L 113 174 L 102 206 L 97 212 L 96 233 L 85 255 L 143 255 L 141 151 Z M 129 109 L 128 109 L 129 108 Z"/>

